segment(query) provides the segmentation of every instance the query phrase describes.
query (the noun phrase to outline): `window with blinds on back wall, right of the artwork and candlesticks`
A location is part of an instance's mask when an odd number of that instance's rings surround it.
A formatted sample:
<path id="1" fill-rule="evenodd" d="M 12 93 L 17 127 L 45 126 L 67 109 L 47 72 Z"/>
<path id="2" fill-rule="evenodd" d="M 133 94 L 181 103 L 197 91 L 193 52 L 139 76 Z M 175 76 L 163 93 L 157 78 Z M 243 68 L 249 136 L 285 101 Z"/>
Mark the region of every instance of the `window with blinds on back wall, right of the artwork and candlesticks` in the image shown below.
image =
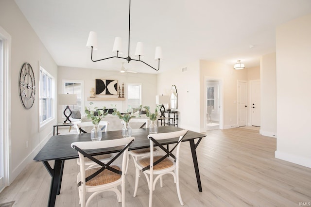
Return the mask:
<path id="1" fill-rule="evenodd" d="M 141 84 L 127 84 L 127 104 L 132 108 L 138 108 L 141 105 Z"/>

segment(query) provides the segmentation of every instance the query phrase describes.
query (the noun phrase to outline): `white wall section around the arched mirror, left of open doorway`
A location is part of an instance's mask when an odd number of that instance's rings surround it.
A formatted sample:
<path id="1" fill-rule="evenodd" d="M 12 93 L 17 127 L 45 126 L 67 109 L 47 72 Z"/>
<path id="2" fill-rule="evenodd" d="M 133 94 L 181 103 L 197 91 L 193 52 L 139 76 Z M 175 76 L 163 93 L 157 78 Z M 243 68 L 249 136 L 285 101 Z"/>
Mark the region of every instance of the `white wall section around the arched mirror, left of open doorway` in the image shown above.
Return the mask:
<path id="1" fill-rule="evenodd" d="M 178 127 L 200 131 L 199 61 L 157 75 L 158 95 L 170 95 L 172 85 L 178 94 Z"/>

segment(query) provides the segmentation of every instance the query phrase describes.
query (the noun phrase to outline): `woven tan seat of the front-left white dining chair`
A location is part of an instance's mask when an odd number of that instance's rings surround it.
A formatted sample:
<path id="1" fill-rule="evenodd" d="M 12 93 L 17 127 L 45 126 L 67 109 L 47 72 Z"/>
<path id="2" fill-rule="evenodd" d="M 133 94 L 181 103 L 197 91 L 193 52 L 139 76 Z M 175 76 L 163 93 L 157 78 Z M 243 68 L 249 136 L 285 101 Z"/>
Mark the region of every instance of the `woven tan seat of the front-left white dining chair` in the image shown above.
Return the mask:
<path id="1" fill-rule="evenodd" d="M 120 168 L 118 166 L 110 166 L 114 169 L 120 170 Z M 96 171 L 98 171 L 100 169 L 100 167 L 98 168 L 91 168 L 89 170 L 86 170 L 86 177 L 88 177 L 89 175 L 92 175 L 93 173 L 95 173 Z M 99 185 L 104 185 L 107 183 L 112 183 L 118 179 L 121 178 L 121 175 L 111 172 L 110 170 L 105 169 L 103 172 L 101 172 L 99 175 L 97 175 L 96 177 L 90 179 L 89 181 L 86 182 L 86 186 L 99 186 Z"/>

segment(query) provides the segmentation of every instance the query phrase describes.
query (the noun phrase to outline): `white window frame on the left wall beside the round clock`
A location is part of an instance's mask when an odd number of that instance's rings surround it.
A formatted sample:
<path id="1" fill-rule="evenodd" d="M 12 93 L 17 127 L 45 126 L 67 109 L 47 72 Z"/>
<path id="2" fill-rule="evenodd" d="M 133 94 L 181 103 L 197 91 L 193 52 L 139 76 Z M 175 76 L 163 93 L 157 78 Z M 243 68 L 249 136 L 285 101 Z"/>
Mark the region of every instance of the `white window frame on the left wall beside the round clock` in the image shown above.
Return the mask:
<path id="1" fill-rule="evenodd" d="M 42 106 L 42 104 L 40 103 L 42 101 L 42 80 L 41 80 L 41 74 L 45 74 L 48 78 L 51 79 L 51 88 L 50 88 L 50 96 L 44 96 L 45 98 L 49 98 L 52 99 L 51 101 L 51 117 L 47 118 L 46 120 L 42 120 L 42 109 L 40 106 Z M 40 128 L 46 126 L 48 123 L 52 122 L 55 118 L 55 79 L 54 77 L 48 72 L 46 71 L 41 65 L 40 65 L 40 71 L 39 71 L 39 123 L 40 123 Z"/>

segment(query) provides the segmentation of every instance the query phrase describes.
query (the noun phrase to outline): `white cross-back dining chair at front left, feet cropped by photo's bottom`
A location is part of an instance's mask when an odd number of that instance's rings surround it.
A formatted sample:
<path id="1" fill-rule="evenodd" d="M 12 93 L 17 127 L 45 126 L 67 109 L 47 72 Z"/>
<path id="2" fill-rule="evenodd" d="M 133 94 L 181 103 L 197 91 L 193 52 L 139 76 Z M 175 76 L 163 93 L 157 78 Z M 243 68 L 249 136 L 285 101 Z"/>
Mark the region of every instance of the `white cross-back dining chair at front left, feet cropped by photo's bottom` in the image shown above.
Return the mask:
<path id="1" fill-rule="evenodd" d="M 91 204 L 91 200 L 104 191 L 115 192 L 118 202 L 122 202 L 122 207 L 125 207 L 125 172 L 123 170 L 126 168 L 128 147 L 134 140 L 134 137 L 128 137 L 115 140 L 71 143 L 71 147 L 78 151 L 81 163 L 80 172 L 77 175 L 81 207 L 88 207 Z M 107 163 L 101 162 L 85 152 L 85 150 L 120 146 L 123 147 L 121 152 Z M 112 165 L 120 156 L 122 156 L 121 166 Z M 85 165 L 85 157 L 91 159 L 99 167 Z M 117 189 L 118 186 L 121 186 L 121 192 Z M 91 193 L 87 199 L 86 193 Z"/>

